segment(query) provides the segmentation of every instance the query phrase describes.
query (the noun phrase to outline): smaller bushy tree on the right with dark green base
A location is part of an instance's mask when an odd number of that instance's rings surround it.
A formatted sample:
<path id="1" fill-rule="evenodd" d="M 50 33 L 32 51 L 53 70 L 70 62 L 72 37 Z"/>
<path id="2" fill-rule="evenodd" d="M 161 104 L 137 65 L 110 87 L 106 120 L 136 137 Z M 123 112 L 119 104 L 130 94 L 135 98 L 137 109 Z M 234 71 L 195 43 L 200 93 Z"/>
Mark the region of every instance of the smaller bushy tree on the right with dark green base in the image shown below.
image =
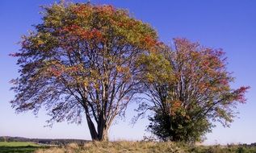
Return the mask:
<path id="1" fill-rule="evenodd" d="M 140 60 L 150 101 L 140 109 L 153 110 L 149 130 L 164 141 L 193 143 L 202 140 L 215 121 L 229 126 L 235 106 L 246 102 L 250 87 L 230 87 L 234 78 L 227 71 L 225 52 L 187 39 L 174 39 L 174 49 L 160 50 Z M 153 75 L 153 69 L 162 69 L 161 75 Z"/>

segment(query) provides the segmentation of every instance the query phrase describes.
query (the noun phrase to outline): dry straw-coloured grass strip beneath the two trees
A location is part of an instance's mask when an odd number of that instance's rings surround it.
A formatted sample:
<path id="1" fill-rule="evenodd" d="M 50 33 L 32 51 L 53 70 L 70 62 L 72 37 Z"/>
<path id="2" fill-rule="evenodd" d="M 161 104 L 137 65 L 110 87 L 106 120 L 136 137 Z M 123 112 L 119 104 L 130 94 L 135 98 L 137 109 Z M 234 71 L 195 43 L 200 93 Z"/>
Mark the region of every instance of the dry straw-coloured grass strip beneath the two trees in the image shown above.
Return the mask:
<path id="1" fill-rule="evenodd" d="M 191 146 L 185 143 L 157 143 L 157 142 L 91 142 L 78 146 L 70 143 L 65 147 L 40 149 L 36 153 L 255 153 L 256 146 L 228 145 L 228 146 Z"/>

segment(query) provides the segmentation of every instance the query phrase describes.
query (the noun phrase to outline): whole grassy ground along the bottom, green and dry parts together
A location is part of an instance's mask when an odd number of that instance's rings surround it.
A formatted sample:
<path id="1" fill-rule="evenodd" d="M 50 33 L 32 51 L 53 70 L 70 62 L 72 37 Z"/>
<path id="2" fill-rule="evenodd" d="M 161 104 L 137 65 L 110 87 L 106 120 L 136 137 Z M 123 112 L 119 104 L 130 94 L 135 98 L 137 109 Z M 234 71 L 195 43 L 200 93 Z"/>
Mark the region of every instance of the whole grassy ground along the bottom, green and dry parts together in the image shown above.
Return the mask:
<path id="1" fill-rule="evenodd" d="M 70 143 L 62 147 L 45 147 L 36 143 L 0 142 L 0 153 L 256 153 L 255 146 L 187 146 L 183 143 L 90 142 Z"/>

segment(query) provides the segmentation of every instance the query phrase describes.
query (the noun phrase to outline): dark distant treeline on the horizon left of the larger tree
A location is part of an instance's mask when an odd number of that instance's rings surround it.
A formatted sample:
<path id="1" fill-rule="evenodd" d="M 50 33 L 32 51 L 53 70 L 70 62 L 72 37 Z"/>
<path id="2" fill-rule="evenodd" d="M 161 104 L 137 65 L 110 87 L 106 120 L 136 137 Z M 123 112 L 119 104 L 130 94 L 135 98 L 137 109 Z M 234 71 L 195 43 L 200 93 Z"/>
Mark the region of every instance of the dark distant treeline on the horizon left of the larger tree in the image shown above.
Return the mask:
<path id="1" fill-rule="evenodd" d="M 78 145 L 82 145 L 90 141 L 82 140 L 82 139 L 27 139 L 23 137 L 2 136 L 0 137 L 0 142 L 33 142 L 33 143 L 61 146 L 68 143 L 78 143 Z"/>

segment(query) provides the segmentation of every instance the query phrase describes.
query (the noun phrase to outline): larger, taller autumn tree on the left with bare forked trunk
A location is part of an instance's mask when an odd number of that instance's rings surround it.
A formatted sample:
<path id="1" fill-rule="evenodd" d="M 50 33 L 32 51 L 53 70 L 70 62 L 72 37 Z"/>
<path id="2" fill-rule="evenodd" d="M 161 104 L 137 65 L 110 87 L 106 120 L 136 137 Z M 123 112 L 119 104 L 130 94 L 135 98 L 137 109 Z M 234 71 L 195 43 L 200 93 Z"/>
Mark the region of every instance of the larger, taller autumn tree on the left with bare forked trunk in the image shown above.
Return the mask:
<path id="1" fill-rule="evenodd" d="M 113 6 L 55 4 L 44 7 L 43 23 L 23 36 L 19 78 L 13 80 L 18 112 L 41 107 L 54 121 L 82 122 L 91 139 L 107 140 L 107 130 L 124 114 L 141 81 L 136 60 L 153 49 L 156 32 Z"/>

